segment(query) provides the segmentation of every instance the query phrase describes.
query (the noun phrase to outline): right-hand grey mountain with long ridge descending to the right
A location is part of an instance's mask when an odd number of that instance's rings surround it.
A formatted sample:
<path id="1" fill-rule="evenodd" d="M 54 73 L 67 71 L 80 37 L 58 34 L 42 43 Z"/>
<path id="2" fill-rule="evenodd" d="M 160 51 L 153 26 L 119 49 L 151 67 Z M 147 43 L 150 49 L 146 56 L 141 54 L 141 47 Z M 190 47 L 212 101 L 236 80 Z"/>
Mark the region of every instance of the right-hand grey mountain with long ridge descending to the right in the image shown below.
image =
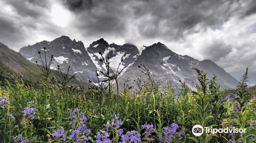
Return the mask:
<path id="1" fill-rule="evenodd" d="M 207 73 L 208 79 L 217 76 L 218 83 L 223 88 L 232 89 L 238 81 L 226 73 L 224 69 L 210 60 L 199 61 L 189 56 L 182 56 L 169 50 L 164 44 L 158 42 L 147 46 L 138 56 L 132 66 L 126 69 L 120 79 L 130 79 L 131 81 L 143 73 L 138 65 L 143 64 L 148 67 L 155 79 L 161 86 L 172 84 L 175 88 L 180 87 L 181 82 L 193 88 L 197 80 L 196 72 L 191 67 L 198 67 Z M 145 80 L 145 76 L 144 77 Z"/>

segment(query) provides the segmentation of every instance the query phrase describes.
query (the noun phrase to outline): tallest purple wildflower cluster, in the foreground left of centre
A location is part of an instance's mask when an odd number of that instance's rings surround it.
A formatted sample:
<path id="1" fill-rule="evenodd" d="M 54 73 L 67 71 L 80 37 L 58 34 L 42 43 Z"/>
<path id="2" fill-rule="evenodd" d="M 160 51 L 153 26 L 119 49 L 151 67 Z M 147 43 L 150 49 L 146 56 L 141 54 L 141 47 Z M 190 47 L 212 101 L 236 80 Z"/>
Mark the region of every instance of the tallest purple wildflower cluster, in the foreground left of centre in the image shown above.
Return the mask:
<path id="1" fill-rule="evenodd" d="M 83 112 L 78 113 L 79 109 L 75 108 L 70 113 L 71 122 L 70 125 L 73 127 L 74 130 L 71 131 L 69 137 L 76 142 L 82 141 L 86 143 L 89 139 L 86 136 L 91 132 L 90 129 L 87 129 L 86 122 L 87 118 L 84 116 Z M 84 135 L 86 134 L 86 135 Z"/>

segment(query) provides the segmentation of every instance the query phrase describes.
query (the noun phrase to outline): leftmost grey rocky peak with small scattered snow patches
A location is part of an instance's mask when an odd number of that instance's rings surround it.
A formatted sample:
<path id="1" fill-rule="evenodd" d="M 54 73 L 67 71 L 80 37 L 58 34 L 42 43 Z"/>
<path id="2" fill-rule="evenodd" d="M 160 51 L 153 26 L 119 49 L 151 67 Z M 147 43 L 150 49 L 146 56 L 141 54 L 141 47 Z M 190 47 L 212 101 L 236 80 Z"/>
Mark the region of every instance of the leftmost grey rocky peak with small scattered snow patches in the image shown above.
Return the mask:
<path id="1" fill-rule="evenodd" d="M 46 47 L 47 59 L 50 60 L 51 55 L 53 55 L 52 69 L 57 69 L 57 65 L 59 65 L 62 71 L 66 71 L 68 66 L 71 66 L 71 73 L 76 74 L 76 77 L 81 80 L 96 80 L 96 66 L 83 43 L 75 39 L 71 40 L 68 36 L 61 36 L 50 42 L 41 41 L 24 46 L 19 50 L 19 53 L 31 62 L 38 61 L 38 64 L 41 64 L 38 51 L 44 53 L 44 47 Z"/>

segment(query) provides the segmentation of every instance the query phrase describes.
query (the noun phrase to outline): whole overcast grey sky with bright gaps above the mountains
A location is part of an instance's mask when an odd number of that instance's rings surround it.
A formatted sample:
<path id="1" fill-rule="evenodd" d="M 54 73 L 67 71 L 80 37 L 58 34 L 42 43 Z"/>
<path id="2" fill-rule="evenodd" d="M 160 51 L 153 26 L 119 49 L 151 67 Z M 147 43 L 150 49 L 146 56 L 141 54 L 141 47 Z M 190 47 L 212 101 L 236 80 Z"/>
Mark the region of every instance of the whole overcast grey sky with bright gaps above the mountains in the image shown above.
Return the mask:
<path id="1" fill-rule="evenodd" d="M 210 59 L 238 80 L 256 83 L 255 0 L 0 0 L 0 42 L 20 47 L 61 35 L 85 46 L 99 38 Z"/>

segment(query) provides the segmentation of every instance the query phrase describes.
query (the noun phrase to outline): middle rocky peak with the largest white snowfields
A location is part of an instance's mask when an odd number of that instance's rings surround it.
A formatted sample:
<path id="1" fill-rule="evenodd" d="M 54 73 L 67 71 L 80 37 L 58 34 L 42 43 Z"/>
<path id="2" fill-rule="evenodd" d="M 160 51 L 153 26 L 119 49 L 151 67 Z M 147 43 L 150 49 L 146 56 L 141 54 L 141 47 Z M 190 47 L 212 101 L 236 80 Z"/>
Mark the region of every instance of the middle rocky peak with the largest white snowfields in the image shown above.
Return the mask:
<path id="1" fill-rule="evenodd" d="M 102 38 L 90 44 L 90 46 L 87 47 L 87 51 L 94 64 L 100 70 L 105 69 L 105 67 L 103 66 L 103 62 L 99 62 L 99 60 L 102 58 L 99 52 L 102 53 L 103 58 L 107 60 L 109 58 L 110 66 L 114 67 L 115 70 L 118 64 L 121 62 L 121 59 L 123 59 L 123 61 L 120 68 L 123 68 L 125 66 L 129 67 L 132 65 L 139 56 L 139 51 L 133 44 L 109 44 Z"/>

